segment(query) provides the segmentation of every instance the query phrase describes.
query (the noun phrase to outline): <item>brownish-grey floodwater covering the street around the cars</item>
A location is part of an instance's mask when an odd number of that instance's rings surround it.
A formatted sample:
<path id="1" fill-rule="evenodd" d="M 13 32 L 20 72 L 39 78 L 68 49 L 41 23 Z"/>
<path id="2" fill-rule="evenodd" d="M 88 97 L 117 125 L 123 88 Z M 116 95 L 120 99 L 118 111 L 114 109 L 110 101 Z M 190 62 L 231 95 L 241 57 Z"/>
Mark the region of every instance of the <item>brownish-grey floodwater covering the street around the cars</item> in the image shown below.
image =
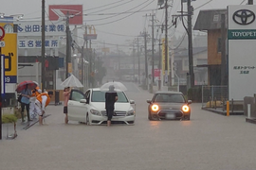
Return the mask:
<path id="1" fill-rule="evenodd" d="M 191 121 L 149 121 L 146 99 L 137 103 L 134 126 L 64 125 L 63 106 L 48 106 L 45 126 L 0 142 L 1 170 L 253 170 L 256 127 L 245 116 L 223 116 L 192 103 Z"/>

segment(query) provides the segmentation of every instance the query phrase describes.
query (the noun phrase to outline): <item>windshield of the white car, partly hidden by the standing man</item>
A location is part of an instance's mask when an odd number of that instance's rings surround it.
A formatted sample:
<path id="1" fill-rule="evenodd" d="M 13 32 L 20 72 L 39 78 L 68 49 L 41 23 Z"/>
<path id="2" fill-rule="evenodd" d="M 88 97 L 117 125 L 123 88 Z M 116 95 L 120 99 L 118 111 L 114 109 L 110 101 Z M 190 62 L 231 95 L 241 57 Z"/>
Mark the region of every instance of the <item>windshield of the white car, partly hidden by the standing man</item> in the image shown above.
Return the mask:
<path id="1" fill-rule="evenodd" d="M 119 99 L 117 102 L 119 103 L 127 103 L 128 99 L 123 92 L 118 93 Z M 101 91 L 93 91 L 92 92 L 92 102 L 105 102 L 105 93 Z"/>

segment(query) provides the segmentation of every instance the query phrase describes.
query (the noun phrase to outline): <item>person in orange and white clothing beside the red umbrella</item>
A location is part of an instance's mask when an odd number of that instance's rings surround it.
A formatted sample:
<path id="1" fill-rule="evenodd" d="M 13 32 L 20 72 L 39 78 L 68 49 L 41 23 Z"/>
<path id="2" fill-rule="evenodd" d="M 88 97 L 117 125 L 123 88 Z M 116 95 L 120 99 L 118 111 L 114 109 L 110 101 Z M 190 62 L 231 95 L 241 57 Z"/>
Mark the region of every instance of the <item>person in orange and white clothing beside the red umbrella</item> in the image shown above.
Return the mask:
<path id="1" fill-rule="evenodd" d="M 40 93 L 36 97 L 35 101 L 35 111 L 39 115 L 39 125 L 43 125 L 43 116 L 46 113 L 46 106 L 50 102 L 53 92 L 49 91 L 48 93 Z"/>

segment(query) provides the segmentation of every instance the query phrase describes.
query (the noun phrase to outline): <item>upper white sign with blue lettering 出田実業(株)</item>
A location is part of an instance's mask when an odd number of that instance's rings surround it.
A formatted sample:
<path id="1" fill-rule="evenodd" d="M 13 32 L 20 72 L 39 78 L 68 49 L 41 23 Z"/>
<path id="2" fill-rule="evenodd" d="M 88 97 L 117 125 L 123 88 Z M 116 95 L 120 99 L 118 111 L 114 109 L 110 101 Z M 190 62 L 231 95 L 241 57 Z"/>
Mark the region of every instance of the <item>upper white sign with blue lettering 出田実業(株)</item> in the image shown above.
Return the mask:
<path id="1" fill-rule="evenodd" d="M 42 22 L 24 22 L 19 21 L 16 24 L 18 27 L 18 36 L 41 36 Z M 64 22 L 49 22 L 46 21 L 46 36 L 63 36 L 65 35 Z"/>

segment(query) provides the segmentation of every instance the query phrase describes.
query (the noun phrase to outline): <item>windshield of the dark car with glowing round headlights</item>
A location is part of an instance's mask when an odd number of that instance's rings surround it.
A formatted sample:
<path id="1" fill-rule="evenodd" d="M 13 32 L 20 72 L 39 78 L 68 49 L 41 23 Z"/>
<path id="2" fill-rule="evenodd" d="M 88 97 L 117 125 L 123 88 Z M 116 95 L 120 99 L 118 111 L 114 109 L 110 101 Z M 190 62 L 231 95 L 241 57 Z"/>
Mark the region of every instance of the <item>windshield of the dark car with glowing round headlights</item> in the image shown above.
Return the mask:
<path id="1" fill-rule="evenodd" d="M 154 101 L 166 103 L 185 103 L 185 99 L 180 93 L 157 93 Z"/>

